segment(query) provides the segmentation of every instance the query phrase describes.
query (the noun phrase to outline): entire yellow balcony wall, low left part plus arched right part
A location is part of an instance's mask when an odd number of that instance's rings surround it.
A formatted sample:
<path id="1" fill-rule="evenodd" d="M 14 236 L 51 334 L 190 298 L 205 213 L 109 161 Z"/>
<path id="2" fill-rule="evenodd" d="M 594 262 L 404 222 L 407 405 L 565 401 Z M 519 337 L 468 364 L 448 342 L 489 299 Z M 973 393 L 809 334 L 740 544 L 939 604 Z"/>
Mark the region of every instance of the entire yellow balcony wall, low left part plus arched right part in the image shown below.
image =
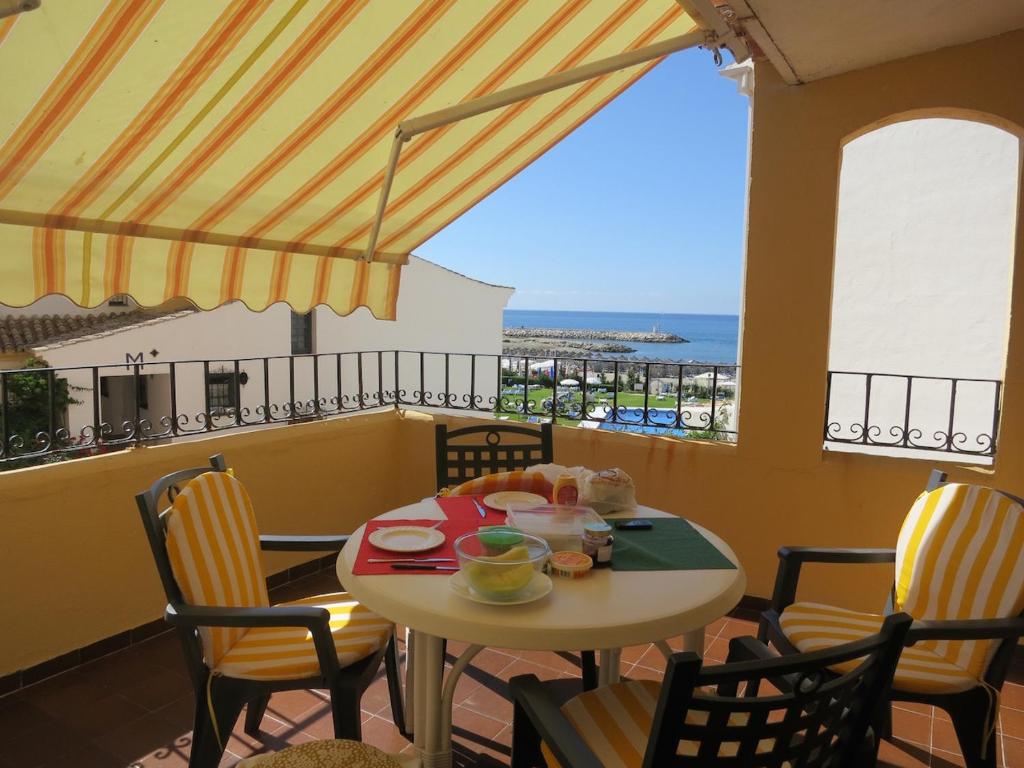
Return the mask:
<path id="1" fill-rule="evenodd" d="M 558 428 L 556 459 L 626 469 L 641 502 L 723 536 L 748 569 L 748 591 L 761 596 L 770 594 L 780 545 L 892 546 L 933 466 L 954 479 L 1024 494 L 1020 312 L 1011 321 L 991 469 L 940 463 L 939 456 L 919 461 L 821 450 L 844 137 L 922 110 L 984 113 L 1019 130 L 1024 97 L 1008 73 L 1022 69 L 1024 32 L 798 88 L 759 65 L 739 444 Z M 1018 237 L 1018 267 L 1021 249 Z M 1013 299 L 1024 306 L 1020 276 Z M 249 486 L 266 532 L 351 530 L 433 485 L 433 420 L 390 412 L 0 474 L 0 675 L 160 615 L 161 591 L 132 495 L 217 451 Z M 267 570 L 299 559 L 278 557 Z M 812 567 L 803 594 L 877 608 L 891 578 L 879 566 Z"/>

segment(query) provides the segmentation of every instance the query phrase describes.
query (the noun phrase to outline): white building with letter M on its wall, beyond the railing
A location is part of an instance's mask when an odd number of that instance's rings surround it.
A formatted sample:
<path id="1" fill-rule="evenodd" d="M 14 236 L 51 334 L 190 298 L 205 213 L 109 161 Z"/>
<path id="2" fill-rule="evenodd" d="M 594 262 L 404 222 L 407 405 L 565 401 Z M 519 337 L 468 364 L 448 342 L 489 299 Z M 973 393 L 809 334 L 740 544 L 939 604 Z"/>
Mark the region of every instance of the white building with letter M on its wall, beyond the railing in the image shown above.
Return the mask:
<path id="1" fill-rule="evenodd" d="M 238 302 L 210 311 L 127 303 L 82 309 L 50 296 L 0 308 L 0 369 L 22 368 L 30 356 L 82 367 L 61 374 L 77 400 L 66 424 L 73 437 L 83 429 L 89 435 L 94 423 L 115 437 L 130 435 L 133 423 L 160 434 L 172 414 L 188 432 L 205 428 L 205 413 L 227 426 L 372 408 L 381 390 L 442 406 L 445 367 L 451 391 L 469 392 L 472 375 L 486 402 L 496 395 L 512 291 L 412 256 L 393 322 L 366 308 L 344 317 L 323 306 L 299 315 L 287 304 L 253 312 Z M 471 362 L 473 354 L 480 356 Z"/>

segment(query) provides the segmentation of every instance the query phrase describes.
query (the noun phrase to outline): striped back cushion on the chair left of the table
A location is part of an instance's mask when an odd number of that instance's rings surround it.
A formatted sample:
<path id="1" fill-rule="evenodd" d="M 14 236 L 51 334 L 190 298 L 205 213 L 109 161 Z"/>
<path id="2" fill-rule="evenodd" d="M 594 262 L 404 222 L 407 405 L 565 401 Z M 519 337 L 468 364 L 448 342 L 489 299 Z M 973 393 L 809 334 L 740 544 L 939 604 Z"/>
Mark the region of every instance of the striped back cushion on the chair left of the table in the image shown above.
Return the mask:
<path id="1" fill-rule="evenodd" d="M 190 605 L 266 607 L 270 600 L 259 559 L 259 532 L 245 487 L 223 472 L 194 478 L 167 512 L 167 554 Z M 215 667 L 245 629 L 200 630 L 207 664 Z"/>

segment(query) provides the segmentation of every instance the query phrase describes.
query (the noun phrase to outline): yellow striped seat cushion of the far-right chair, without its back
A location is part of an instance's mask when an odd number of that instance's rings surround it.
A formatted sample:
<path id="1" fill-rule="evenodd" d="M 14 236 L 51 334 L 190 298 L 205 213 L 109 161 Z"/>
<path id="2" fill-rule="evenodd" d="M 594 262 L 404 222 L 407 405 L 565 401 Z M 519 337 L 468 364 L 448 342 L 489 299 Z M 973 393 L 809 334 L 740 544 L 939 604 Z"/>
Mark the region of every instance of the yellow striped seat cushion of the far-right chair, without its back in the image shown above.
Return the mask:
<path id="1" fill-rule="evenodd" d="M 782 612 L 781 626 L 786 638 L 798 650 L 810 652 L 873 635 L 882 629 L 885 616 L 861 613 L 821 603 L 794 603 Z M 904 648 L 896 668 L 893 686 L 912 693 L 953 693 L 981 683 L 966 670 L 935 652 L 934 642 L 922 642 Z M 852 659 L 837 665 L 836 672 L 850 672 L 859 664 Z"/>

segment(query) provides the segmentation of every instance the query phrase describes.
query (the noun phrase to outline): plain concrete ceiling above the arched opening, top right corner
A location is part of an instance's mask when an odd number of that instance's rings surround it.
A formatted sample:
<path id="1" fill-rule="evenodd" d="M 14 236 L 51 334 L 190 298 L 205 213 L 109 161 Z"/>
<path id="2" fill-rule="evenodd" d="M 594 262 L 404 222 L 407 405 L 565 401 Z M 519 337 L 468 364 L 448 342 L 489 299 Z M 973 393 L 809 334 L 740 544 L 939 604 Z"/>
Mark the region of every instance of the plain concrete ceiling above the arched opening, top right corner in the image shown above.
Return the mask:
<path id="1" fill-rule="evenodd" d="M 726 0 L 726 4 L 735 12 L 730 20 L 746 30 L 788 83 L 1024 28 L 1024 0 Z"/>

